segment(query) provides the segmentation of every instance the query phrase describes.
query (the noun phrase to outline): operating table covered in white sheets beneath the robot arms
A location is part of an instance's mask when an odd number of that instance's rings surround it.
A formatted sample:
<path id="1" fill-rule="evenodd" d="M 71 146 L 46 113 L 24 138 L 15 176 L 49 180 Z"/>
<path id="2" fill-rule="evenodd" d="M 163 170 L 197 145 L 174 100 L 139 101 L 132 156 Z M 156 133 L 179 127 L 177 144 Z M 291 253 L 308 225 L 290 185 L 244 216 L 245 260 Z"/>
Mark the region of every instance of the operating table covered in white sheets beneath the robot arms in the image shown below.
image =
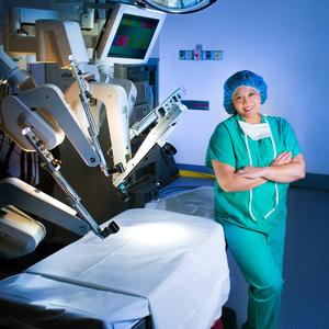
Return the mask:
<path id="1" fill-rule="evenodd" d="M 211 328 L 229 292 L 222 226 L 150 208 L 113 219 L 110 239 L 90 231 L 2 280 L 0 325 L 122 329 L 150 315 L 157 329 Z"/>

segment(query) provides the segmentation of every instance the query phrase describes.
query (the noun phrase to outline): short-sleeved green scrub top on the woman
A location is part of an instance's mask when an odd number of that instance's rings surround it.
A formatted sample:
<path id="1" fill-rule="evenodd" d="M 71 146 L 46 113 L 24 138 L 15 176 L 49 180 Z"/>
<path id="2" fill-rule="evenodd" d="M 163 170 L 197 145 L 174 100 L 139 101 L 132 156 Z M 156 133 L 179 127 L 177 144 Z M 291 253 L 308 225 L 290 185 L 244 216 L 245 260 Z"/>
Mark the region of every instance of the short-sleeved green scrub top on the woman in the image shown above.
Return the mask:
<path id="1" fill-rule="evenodd" d="M 300 148 L 292 126 L 282 117 L 265 117 L 272 132 L 276 147 L 276 156 L 283 151 L 292 151 L 293 158 L 299 155 Z M 225 120 L 215 128 L 206 151 L 206 166 L 213 168 L 212 160 L 218 160 L 239 170 L 250 166 L 250 159 L 246 146 L 245 133 L 238 121 L 242 116 L 236 114 Z M 262 115 L 261 122 L 264 121 Z M 274 160 L 274 149 L 270 137 L 252 140 L 248 138 L 248 145 L 253 167 L 268 167 Z M 264 216 L 275 206 L 275 183 L 269 181 L 252 190 L 251 209 L 254 219 L 249 212 L 250 191 L 225 192 L 215 180 L 215 217 L 216 220 L 230 222 L 241 227 L 270 232 L 286 217 L 287 183 L 276 183 L 279 189 L 279 204 L 270 216 Z"/>

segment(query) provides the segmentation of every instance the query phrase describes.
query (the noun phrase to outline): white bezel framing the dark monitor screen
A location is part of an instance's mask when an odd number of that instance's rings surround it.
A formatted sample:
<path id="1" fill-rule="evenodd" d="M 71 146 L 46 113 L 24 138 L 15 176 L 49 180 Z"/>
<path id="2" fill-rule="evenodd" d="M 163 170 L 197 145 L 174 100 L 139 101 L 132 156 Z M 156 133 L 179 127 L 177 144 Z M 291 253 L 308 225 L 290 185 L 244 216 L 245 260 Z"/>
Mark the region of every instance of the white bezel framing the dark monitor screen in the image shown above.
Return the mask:
<path id="1" fill-rule="evenodd" d="M 148 46 L 148 49 L 144 58 L 126 58 L 126 57 L 107 57 L 109 50 L 120 26 L 121 20 L 124 14 L 132 14 L 143 18 L 156 19 L 158 20 L 158 25 L 151 38 L 151 42 Z M 145 64 L 148 61 L 149 56 L 155 47 L 155 44 L 158 39 L 159 32 L 163 25 L 166 13 L 159 12 L 156 10 L 140 9 L 137 7 L 114 3 L 111 5 L 111 14 L 104 24 L 102 34 L 100 36 L 99 44 L 95 49 L 95 58 L 99 63 L 109 63 L 109 64 Z"/>

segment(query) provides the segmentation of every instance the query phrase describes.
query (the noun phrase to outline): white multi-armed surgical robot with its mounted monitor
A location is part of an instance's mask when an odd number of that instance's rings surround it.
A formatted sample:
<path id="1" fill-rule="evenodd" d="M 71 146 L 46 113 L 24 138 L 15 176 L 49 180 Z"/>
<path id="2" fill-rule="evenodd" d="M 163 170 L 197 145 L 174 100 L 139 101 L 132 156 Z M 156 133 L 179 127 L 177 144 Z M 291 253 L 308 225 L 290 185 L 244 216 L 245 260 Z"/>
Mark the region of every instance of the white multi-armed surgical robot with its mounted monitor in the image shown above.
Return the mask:
<path id="1" fill-rule="evenodd" d="M 112 4 L 111 12 L 98 42 L 94 64 L 89 64 L 77 22 L 35 21 L 37 60 L 56 61 L 63 68 L 70 68 L 76 79 L 65 94 L 54 84 L 37 86 L 24 70 L 16 67 L 3 48 L 0 50 L 0 81 L 16 91 L 1 100 L 1 128 L 20 148 L 29 152 L 37 152 L 42 167 L 53 175 L 70 204 L 70 207 L 64 205 L 18 179 L 3 180 L 0 183 L 2 208 L 0 241 L 4 242 L 1 242 L 0 250 L 5 249 L 1 254 L 4 258 L 31 252 L 45 235 L 43 225 L 32 220 L 22 211 L 35 214 L 79 235 L 92 230 L 100 238 L 105 238 L 118 230 L 115 222 L 101 229 L 83 207 L 79 195 L 60 173 L 60 163 L 50 150 L 60 145 L 65 136 L 84 163 L 89 167 L 99 166 L 104 175 L 110 178 L 111 183 L 117 188 L 120 194 L 126 198 L 129 175 L 155 145 L 166 146 L 168 135 L 185 110 L 180 102 L 182 90 L 179 89 L 146 117 L 129 126 L 129 115 L 136 100 L 136 87 L 128 80 L 113 79 L 111 67 L 113 63 L 147 60 L 162 26 L 164 14 L 126 4 Z M 129 33 L 136 34 L 135 29 L 131 29 L 125 32 L 126 35 L 123 35 L 127 26 L 134 26 L 132 22 L 135 26 L 136 24 L 141 26 L 138 33 L 144 33 L 143 37 L 146 41 L 144 48 L 137 50 L 136 45 L 118 42 L 120 38 L 128 38 Z M 143 26 L 147 26 L 147 31 L 144 31 Z M 11 52 L 15 54 L 13 48 L 14 46 L 11 45 Z M 111 168 L 105 161 L 98 140 L 101 109 L 106 113 L 112 144 L 113 166 Z M 145 133 L 146 129 L 149 129 L 146 138 L 133 155 L 131 147 L 133 138 Z M 26 229 L 32 223 L 33 229 Z M 18 231 L 21 235 L 19 241 L 16 241 Z M 12 248 L 15 250 L 11 254 L 9 246 L 12 245 L 15 245 L 15 248 Z M 22 248 L 22 245 L 25 247 Z"/>

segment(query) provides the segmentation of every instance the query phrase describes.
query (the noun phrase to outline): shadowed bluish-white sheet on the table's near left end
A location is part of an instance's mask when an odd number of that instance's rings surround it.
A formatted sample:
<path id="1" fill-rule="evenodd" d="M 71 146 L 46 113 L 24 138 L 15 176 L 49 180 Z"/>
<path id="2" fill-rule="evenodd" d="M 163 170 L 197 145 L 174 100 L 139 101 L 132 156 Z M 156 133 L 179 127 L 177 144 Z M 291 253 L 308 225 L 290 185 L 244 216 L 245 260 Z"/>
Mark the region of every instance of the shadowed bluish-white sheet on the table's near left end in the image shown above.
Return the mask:
<path id="1" fill-rule="evenodd" d="M 31 306 L 33 315 L 19 311 L 18 307 L 24 304 Z M 88 288 L 30 273 L 21 273 L 0 282 L 0 305 L 3 318 L 15 318 L 15 321 L 35 325 L 37 328 L 63 328 L 63 322 L 66 324 L 68 318 L 84 318 L 86 321 L 80 322 L 80 326 L 86 324 L 83 328 L 87 328 L 88 320 L 94 319 L 101 321 L 101 328 L 104 325 L 111 329 L 128 329 L 138 319 L 149 315 L 145 298 Z"/>

